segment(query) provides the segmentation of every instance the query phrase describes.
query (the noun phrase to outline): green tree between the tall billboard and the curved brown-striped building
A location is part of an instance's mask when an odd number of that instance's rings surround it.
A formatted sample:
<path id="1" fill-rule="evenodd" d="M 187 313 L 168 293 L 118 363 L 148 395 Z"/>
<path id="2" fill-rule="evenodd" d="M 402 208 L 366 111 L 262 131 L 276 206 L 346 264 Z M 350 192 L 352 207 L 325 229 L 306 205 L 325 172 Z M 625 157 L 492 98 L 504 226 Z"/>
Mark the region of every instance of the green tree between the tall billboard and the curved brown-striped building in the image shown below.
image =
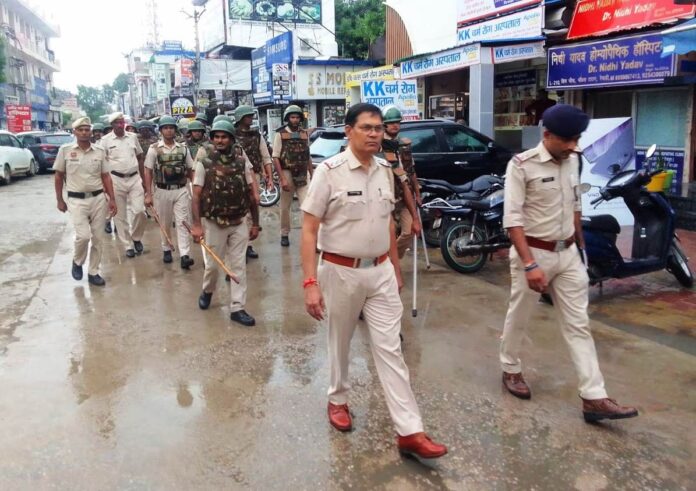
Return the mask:
<path id="1" fill-rule="evenodd" d="M 336 0 L 336 42 L 342 56 L 367 59 L 370 45 L 384 35 L 383 0 Z"/>

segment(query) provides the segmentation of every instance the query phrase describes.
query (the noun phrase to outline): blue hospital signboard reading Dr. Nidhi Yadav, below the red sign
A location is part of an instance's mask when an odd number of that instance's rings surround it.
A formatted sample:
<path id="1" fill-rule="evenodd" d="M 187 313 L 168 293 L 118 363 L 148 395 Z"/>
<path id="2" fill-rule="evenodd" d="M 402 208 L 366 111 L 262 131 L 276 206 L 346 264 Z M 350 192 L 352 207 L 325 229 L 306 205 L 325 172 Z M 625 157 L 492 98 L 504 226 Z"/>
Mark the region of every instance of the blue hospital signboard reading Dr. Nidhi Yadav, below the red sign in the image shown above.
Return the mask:
<path id="1" fill-rule="evenodd" d="M 675 56 L 661 58 L 662 36 L 629 36 L 548 50 L 549 89 L 662 83 Z"/>

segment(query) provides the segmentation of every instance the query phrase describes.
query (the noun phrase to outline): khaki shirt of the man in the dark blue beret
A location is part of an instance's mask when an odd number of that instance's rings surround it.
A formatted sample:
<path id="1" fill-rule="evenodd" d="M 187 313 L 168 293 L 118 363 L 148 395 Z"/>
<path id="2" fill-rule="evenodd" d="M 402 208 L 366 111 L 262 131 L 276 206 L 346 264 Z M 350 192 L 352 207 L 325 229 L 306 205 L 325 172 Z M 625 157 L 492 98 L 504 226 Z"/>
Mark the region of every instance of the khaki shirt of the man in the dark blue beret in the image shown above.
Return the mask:
<path id="1" fill-rule="evenodd" d="M 582 211 L 577 154 L 555 163 L 541 142 L 512 158 L 505 174 L 503 226 L 524 227 L 530 237 L 564 240 L 575 234 Z"/>

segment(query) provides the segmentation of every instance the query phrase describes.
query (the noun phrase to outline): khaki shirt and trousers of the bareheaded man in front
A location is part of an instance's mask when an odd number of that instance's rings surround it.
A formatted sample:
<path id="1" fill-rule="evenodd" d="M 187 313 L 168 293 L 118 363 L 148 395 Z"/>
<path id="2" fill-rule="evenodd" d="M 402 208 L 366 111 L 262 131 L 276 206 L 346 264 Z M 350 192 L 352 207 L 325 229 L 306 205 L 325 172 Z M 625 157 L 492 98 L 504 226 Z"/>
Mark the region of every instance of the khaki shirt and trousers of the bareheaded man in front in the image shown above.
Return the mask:
<path id="1" fill-rule="evenodd" d="M 405 436 L 423 431 L 423 423 L 401 353 L 403 306 L 391 261 L 375 265 L 390 247 L 393 187 L 389 163 L 375 157 L 367 172 L 348 149 L 317 167 L 302 210 L 321 219 L 318 247 L 325 252 L 317 275 L 329 323 L 329 402 L 348 402 L 350 341 L 362 311 L 389 414 Z M 341 266 L 324 259 L 327 253 L 362 259 L 357 268 Z"/>

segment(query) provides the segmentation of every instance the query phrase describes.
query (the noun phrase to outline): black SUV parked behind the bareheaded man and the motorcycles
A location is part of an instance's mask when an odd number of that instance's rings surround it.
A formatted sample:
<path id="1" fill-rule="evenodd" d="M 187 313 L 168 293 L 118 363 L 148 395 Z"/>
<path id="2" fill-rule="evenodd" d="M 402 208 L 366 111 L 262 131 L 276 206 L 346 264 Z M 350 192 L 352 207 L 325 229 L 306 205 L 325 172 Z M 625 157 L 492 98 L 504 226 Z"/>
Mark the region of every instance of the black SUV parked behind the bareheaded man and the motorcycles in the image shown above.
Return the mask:
<path id="1" fill-rule="evenodd" d="M 412 142 L 418 177 L 463 184 L 484 174 L 505 173 L 512 152 L 471 128 L 442 119 L 403 121 L 400 138 Z M 310 146 L 314 165 L 347 145 L 343 128 L 328 128 Z"/>

